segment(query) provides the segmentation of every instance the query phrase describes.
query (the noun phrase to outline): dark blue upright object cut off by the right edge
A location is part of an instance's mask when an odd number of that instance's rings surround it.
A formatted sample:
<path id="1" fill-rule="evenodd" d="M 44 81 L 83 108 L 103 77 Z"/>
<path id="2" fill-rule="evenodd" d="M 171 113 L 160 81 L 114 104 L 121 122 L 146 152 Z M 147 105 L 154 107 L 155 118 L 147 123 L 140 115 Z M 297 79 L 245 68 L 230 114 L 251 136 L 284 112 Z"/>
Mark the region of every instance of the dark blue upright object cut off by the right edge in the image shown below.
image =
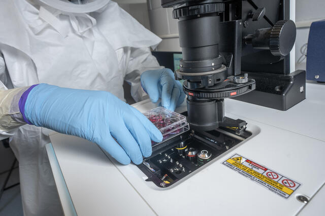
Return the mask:
<path id="1" fill-rule="evenodd" d="M 310 26 L 306 72 L 308 80 L 325 82 L 325 20 Z"/>

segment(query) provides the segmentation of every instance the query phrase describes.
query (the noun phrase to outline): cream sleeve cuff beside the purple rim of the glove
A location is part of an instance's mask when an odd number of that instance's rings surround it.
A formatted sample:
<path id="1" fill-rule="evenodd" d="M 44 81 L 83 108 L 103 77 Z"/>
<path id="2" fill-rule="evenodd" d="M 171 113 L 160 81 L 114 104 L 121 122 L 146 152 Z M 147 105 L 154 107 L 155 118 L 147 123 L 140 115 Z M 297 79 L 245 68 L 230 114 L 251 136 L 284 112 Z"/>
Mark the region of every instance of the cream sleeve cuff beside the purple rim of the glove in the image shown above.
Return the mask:
<path id="1" fill-rule="evenodd" d="M 0 74 L 5 73 L 5 61 L 0 56 Z M 0 140 L 13 136 L 17 128 L 26 124 L 19 110 L 19 99 L 29 87 L 8 90 L 0 81 Z"/>

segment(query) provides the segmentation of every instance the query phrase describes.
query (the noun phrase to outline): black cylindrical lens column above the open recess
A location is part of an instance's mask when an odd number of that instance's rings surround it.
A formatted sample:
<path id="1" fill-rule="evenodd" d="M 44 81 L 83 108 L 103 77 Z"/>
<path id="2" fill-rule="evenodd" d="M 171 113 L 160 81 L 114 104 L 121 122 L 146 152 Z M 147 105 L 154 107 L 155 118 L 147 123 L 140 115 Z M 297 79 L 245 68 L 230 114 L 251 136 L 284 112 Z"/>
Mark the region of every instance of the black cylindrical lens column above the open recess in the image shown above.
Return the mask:
<path id="1" fill-rule="evenodd" d="M 224 82 L 241 72 L 242 22 L 220 22 L 224 20 L 225 10 L 222 0 L 162 1 L 162 5 L 173 7 L 173 17 L 179 19 L 183 59 L 175 78 L 187 80 L 183 89 L 189 96 L 188 122 L 198 130 L 215 129 L 225 119 L 223 98 L 236 97 L 255 88 L 253 79 L 245 86 Z M 224 123 L 239 126 L 233 121 Z"/>

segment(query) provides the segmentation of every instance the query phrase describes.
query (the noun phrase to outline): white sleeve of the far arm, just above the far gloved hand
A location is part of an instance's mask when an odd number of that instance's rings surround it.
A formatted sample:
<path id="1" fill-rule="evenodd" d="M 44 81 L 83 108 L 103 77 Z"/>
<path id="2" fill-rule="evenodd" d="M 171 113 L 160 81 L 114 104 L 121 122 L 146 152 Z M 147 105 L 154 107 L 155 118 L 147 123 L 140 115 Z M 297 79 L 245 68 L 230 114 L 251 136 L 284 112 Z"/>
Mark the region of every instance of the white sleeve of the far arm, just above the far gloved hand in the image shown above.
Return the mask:
<path id="1" fill-rule="evenodd" d="M 131 85 L 131 95 L 138 102 L 148 98 L 141 87 L 140 76 L 147 70 L 164 68 L 151 54 L 150 48 L 129 48 L 125 81 Z M 127 52 L 127 51 L 126 51 Z"/>

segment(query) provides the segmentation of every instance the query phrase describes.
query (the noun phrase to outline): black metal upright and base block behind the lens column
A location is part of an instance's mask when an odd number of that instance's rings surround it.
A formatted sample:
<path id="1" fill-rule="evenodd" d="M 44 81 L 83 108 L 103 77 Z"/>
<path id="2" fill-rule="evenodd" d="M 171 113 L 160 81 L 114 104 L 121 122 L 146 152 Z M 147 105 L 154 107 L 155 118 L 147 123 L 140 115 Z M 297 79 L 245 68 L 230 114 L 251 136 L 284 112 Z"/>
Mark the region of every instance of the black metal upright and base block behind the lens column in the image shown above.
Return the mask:
<path id="1" fill-rule="evenodd" d="M 253 34 L 257 29 L 277 28 L 279 31 L 284 27 L 285 31 L 282 32 L 282 35 L 270 38 L 273 41 L 268 41 L 269 46 L 272 42 L 273 47 L 269 47 L 269 50 L 255 49 L 251 44 L 243 42 L 241 70 L 255 79 L 256 89 L 247 95 L 233 99 L 278 110 L 287 110 L 306 98 L 306 72 L 298 70 L 290 73 L 292 71 L 290 54 L 281 55 L 291 50 L 288 48 L 293 46 L 294 41 L 288 41 L 288 39 L 295 38 L 296 35 L 293 23 L 285 23 L 285 20 L 290 19 L 289 2 L 289 0 L 247 0 L 237 3 L 240 8 L 237 18 L 242 19 L 244 24 L 246 22 L 246 27 L 242 31 L 244 40 L 247 35 Z M 266 8 L 265 19 L 259 21 L 249 19 L 249 13 L 262 7 Z M 282 41 L 280 41 L 280 37 Z M 283 48 L 282 51 L 281 48 Z"/>

